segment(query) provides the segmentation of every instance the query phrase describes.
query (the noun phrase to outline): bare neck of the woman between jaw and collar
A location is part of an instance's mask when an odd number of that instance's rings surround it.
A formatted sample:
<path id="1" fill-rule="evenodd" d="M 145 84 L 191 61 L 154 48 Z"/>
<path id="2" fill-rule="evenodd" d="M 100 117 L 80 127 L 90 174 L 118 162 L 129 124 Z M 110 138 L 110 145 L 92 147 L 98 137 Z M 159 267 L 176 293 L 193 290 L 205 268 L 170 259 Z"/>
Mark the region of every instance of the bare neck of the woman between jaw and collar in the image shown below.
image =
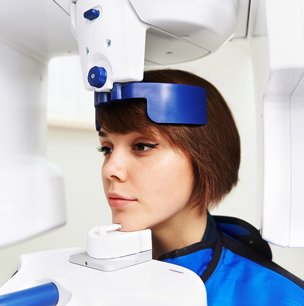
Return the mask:
<path id="1" fill-rule="evenodd" d="M 207 213 L 198 218 L 188 207 L 152 229 L 153 259 L 160 255 L 202 240 Z"/>

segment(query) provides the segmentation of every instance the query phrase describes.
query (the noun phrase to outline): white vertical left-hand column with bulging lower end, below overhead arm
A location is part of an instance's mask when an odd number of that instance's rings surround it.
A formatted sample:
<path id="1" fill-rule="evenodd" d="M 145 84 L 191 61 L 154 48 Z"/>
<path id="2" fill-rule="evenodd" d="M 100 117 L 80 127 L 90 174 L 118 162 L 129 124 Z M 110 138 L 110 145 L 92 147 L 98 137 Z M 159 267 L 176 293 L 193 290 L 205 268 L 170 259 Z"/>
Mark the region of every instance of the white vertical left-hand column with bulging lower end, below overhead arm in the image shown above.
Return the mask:
<path id="1" fill-rule="evenodd" d="M 46 159 L 46 67 L 0 42 L 0 247 L 66 222 L 62 172 Z"/>

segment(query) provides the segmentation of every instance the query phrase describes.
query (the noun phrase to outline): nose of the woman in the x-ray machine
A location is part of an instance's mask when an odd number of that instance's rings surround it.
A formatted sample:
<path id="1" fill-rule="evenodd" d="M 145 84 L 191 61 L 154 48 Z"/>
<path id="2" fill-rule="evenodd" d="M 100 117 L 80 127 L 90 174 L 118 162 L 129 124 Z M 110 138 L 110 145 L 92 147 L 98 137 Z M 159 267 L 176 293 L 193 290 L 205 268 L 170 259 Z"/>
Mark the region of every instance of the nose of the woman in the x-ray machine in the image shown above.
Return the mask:
<path id="1" fill-rule="evenodd" d="M 113 149 L 106 157 L 102 166 L 103 178 L 125 181 L 127 179 L 127 158 L 124 152 Z"/>

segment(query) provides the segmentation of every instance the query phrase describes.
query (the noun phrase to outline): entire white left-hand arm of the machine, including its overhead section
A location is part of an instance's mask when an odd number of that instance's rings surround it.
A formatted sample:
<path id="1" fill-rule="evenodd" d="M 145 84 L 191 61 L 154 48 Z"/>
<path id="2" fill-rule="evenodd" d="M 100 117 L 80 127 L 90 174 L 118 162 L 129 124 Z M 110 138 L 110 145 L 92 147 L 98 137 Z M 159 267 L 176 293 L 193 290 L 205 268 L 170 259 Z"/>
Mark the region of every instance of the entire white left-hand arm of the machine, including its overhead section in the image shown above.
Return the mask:
<path id="1" fill-rule="evenodd" d="M 77 53 L 52 0 L 0 1 L 0 248 L 66 222 L 61 170 L 46 159 L 47 65 Z"/>

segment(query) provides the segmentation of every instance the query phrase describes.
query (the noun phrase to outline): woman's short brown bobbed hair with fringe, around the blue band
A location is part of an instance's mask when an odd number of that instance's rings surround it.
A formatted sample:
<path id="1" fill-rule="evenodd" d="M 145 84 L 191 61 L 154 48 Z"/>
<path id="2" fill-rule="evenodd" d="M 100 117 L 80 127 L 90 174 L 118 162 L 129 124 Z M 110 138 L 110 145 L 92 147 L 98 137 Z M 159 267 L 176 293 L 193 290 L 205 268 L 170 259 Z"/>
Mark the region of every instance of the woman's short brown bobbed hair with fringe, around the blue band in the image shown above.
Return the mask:
<path id="1" fill-rule="evenodd" d="M 204 87 L 208 122 L 205 125 L 155 123 L 147 116 L 146 100 L 134 98 L 102 106 L 98 110 L 98 123 L 110 133 L 150 134 L 157 130 L 173 147 L 188 155 L 195 175 L 191 205 L 202 215 L 217 205 L 238 181 L 240 138 L 233 115 L 219 91 L 190 72 L 150 70 L 144 73 L 143 82 Z"/>

